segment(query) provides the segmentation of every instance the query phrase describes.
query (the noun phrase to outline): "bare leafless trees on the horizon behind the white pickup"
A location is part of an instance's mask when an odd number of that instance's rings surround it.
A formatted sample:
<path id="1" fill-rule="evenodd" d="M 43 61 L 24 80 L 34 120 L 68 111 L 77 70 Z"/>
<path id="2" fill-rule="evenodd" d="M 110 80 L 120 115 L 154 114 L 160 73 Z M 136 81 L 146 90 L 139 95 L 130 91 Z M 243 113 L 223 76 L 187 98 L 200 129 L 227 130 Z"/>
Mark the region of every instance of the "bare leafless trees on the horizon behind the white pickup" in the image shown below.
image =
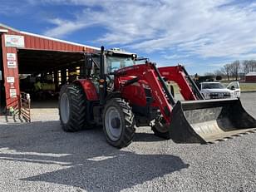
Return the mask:
<path id="1" fill-rule="evenodd" d="M 256 60 L 236 60 L 232 63 L 225 64 L 219 70 L 214 71 L 214 73 L 205 73 L 205 76 L 222 76 L 228 80 L 230 78 L 238 80 L 239 74 L 246 75 L 250 71 L 256 71 Z"/>

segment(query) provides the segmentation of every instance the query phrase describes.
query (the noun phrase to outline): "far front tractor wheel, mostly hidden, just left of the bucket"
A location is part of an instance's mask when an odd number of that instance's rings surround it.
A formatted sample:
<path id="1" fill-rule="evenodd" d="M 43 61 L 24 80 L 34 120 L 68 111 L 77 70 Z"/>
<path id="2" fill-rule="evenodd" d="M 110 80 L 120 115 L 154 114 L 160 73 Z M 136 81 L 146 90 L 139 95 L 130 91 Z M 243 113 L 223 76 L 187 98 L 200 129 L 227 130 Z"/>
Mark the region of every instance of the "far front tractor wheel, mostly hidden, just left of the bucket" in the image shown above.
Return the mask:
<path id="1" fill-rule="evenodd" d="M 165 120 L 155 121 L 155 125 L 151 127 L 154 134 L 165 140 L 170 139 L 169 126 L 166 125 Z"/>

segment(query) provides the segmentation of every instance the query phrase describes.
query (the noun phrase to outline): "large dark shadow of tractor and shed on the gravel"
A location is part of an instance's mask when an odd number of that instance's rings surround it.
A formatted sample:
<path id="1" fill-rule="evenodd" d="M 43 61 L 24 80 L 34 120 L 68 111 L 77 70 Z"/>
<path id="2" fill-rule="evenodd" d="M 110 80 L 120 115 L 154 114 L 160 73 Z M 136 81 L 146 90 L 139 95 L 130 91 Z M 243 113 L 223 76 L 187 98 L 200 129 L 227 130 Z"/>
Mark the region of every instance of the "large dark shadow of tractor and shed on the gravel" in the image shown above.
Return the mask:
<path id="1" fill-rule="evenodd" d="M 71 185 L 88 191 L 120 191 L 189 167 L 175 155 L 117 150 L 106 143 L 99 128 L 63 132 L 59 121 L 1 126 L 0 147 L 0 160 L 37 163 L 42 170 L 48 164 L 57 165 L 52 172 L 21 180 Z"/>

